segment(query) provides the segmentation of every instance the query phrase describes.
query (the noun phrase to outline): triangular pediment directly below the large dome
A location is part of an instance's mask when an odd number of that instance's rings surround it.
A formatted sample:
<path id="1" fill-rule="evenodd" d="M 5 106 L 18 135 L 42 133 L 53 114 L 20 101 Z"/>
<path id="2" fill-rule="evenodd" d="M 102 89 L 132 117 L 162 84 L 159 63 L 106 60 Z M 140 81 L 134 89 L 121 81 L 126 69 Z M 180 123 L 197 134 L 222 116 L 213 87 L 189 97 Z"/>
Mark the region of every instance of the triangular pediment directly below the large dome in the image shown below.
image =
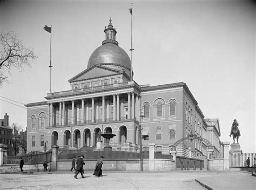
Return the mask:
<path id="1" fill-rule="evenodd" d="M 75 77 L 71 78 L 69 82 L 75 82 L 78 80 L 86 80 L 86 79 L 92 79 L 92 78 L 98 78 L 98 77 L 105 77 L 105 76 L 110 76 L 113 74 L 119 74 L 123 73 L 123 71 L 115 70 L 115 69 L 110 69 L 109 67 L 105 66 L 99 66 L 99 65 L 94 65 L 90 67 L 89 69 L 86 69 L 79 74 L 77 74 Z"/>

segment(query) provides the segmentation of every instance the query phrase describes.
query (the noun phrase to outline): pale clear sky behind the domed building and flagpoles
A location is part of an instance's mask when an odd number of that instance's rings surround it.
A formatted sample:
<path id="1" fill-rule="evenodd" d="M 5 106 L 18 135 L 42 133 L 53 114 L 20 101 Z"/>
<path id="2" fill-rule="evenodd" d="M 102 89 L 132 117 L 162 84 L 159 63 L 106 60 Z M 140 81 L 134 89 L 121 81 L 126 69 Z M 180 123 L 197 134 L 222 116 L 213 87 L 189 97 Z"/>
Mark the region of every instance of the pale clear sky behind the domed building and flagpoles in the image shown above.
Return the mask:
<path id="1" fill-rule="evenodd" d="M 0 89 L 0 118 L 8 113 L 10 124 L 25 128 L 23 104 L 45 101 L 49 93 L 50 33 L 44 25 L 52 25 L 54 92 L 70 90 L 68 80 L 87 68 L 110 17 L 130 56 L 131 1 L 9 0 L 0 6 L 1 30 L 15 31 L 39 54 L 31 69 L 13 70 Z M 186 83 L 205 118 L 219 118 L 221 141 L 232 143 L 237 119 L 242 151 L 256 152 L 253 1 L 133 1 L 133 48 L 138 84 Z"/>

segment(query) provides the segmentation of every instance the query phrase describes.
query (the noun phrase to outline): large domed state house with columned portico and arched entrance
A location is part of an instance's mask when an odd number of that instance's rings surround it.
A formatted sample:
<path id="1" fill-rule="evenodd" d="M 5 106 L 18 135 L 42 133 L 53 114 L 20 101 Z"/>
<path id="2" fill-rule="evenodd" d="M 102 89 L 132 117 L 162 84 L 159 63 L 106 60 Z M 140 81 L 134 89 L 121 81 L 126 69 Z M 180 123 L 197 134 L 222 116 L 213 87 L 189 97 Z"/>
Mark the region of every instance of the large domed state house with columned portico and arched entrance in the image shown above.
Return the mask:
<path id="1" fill-rule="evenodd" d="M 69 80 L 70 90 L 48 93 L 46 101 L 26 104 L 27 150 L 44 151 L 44 143 L 70 148 L 95 146 L 98 134 L 113 133 L 113 148 L 156 144 L 156 151 L 169 154 L 174 142 L 196 133 L 219 152 L 218 119 L 204 119 L 197 100 L 183 82 L 158 86 L 131 80 L 131 60 L 116 40 L 110 23 L 105 40 L 89 58 L 87 69 Z M 139 120 L 142 137 L 139 137 Z M 104 143 L 104 141 L 103 141 Z M 177 155 L 207 155 L 203 141 L 182 141 Z"/>

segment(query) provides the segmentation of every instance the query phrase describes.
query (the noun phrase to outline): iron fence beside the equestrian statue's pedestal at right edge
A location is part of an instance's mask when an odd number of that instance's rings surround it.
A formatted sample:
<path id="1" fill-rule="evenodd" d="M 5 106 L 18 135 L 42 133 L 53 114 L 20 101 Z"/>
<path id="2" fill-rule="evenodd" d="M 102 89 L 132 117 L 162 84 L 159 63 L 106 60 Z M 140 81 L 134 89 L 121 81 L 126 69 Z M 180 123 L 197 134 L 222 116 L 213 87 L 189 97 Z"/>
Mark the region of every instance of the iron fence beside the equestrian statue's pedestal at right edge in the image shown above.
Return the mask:
<path id="1" fill-rule="evenodd" d="M 255 153 L 230 153 L 230 167 L 247 167 L 247 159 L 250 160 L 248 167 L 253 167 L 255 156 Z"/>

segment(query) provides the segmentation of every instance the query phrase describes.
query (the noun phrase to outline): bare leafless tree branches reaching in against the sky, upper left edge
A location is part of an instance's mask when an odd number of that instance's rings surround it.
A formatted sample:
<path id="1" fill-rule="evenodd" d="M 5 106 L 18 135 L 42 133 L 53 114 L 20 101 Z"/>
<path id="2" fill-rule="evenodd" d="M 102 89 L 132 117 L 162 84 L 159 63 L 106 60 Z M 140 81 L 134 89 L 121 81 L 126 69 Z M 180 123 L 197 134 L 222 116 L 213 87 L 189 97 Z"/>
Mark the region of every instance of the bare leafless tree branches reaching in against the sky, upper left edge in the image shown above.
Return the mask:
<path id="1" fill-rule="evenodd" d="M 0 36 L 0 85 L 11 76 L 12 69 L 24 71 L 30 68 L 38 56 L 33 49 L 26 48 L 14 32 L 1 33 Z"/>

